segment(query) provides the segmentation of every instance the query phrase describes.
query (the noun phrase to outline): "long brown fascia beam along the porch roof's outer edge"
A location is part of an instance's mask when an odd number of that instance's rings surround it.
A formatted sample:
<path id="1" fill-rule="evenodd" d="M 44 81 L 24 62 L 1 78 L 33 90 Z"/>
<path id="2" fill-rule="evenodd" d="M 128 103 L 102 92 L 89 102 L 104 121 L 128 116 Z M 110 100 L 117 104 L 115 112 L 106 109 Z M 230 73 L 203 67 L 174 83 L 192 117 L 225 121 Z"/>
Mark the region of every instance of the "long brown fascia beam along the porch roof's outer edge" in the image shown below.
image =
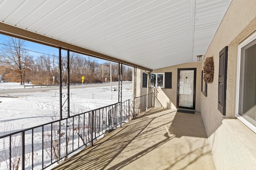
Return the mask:
<path id="1" fill-rule="evenodd" d="M 120 59 L 116 59 L 114 57 L 110 57 L 108 55 L 104 55 L 95 51 L 91 51 L 82 47 L 78 47 L 76 45 L 72 45 L 69 43 L 65 43 L 63 41 L 59 41 L 57 39 L 53 39 L 50 37 L 46 37 L 44 35 L 40 35 L 25 29 L 21 29 L 18 27 L 14 27 L 12 25 L 8 25 L 6 23 L 2 23 L 0 22 L 0 33 L 4 34 L 4 35 L 8 35 L 8 36 L 12 36 L 12 37 L 16 37 L 19 39 L 24 39 L 24 40 L 28 40 L 28 41 L 32 41 L 35 43 L 40 43 L 40 44 L 44 44 L 44 45 L 48 45 L 51 47 L 61 47 L 62 49 L 69 49 L 72 52 L 75 53 L 80 53 L 83 55 L 88 55 L 91 57 L 96 57 L 99 59 L 104 59 L 104 60 L 108 60 L 108 61 L 113 61 L 113 62 L 117 62 L 117 63 L 122 63 L 122 64 L 126 64 L 128 66 L 133 66 L 133 67 L 137 67 L 143 70 L 148 70 L 148 71 L 152 71 L 152 69 L 150 68 L 146 68 L 134 63 L 130 63 L 128 61 L 123 61 Z"/>

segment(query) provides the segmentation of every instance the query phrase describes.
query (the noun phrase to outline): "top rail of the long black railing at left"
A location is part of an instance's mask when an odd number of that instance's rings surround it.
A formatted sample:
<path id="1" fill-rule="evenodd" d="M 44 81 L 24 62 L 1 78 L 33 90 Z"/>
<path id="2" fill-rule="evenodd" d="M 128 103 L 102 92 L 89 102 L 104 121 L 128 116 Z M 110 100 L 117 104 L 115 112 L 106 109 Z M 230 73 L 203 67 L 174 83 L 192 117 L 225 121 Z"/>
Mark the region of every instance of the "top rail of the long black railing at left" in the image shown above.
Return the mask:
<path id="1" fill-rule="evenodd" d="M 128 99 L 128 100 L 130 100 L 130 99 Z M 128 100 L 126 100 L 126 101 L 124 101 L 124 102 L 127 102 Z M 124 103 L 124 102 L 122 102 L 122 103 Z M 56 121 L 51 121 L 51 122 L 48 122 L 48 123 L 44 123 L 44 124 L 42 124 L 42 125 L 37 125 L 37 126 L 30 127 L 30 128 L 27 128 L 27 129 L 22 129 L 22 130 L 20 130 L 20 131 L 8 133 L 8 134 L 6 134 L 6 135 L 0 136 L 0 139 L 2 139 L 2 138 L 4 138 L 4 137 L 8 137 L 8 136 L 10 136 L 10 135 L 15 135 L 15 134 L 17 134 L 17 133 L 22 133 L 22 132 L 24 132 L 24 131 L 29 131 L 29 130 L 32 130 L 32 129 L 36 129 L 36 128 L 38 128 L 38 127 L 50 125 L 50 124 L 52 124 L 52 123 L 56 123 L 56 122 L 59 122 L 59 121 L 63 121 L 63 120 L 66 120 L 66 119 L 70 119 L 70 118 L 72 118 L 72 117 L 76 117 L 76 116 L 79 116 L 79 115 L 82 115 L 82 114 L 85 114 L 85 113 L 90 113 L 90 112 L 92 112 L 92 111 L 96 111 L 96 110 L 99 110 L 99 109 L 104 109 L 105 107 L 114 106 L 114 105 L 117 105 L 117 104 L 120 104 L 120 103 L 121 103 L 121 102 L 117 102 L 117 103 L 115 103 L 115 104 L 111 104 L 111 105 L 108 105 L 108 106 L 104 106 L 104 107 L 100 107 L 100 108 L 93 109 L 93 110 L 90 110 L 90 111 L 86 111 L 86 112 L 83 112 L 83 113 L 79 113 L 79 114 L 77 114 L 77 115 L 72 115 L 72 116 L 70 116 L 70 117 L 65 117 L 65 118 L 63 118 L 63 119 L 59 119 L 59 120 L 56 120 Z"/>

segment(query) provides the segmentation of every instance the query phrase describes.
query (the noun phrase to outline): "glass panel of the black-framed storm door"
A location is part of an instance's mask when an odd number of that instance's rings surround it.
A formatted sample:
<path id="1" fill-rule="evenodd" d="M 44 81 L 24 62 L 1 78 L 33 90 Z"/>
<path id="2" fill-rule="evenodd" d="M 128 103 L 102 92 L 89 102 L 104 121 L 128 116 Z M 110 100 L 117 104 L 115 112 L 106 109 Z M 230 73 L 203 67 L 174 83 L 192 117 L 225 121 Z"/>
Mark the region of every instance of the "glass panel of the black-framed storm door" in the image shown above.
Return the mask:
<path id="1" fill-rule="evenodd" d="M 180 70 L 179 105 L 193 108 L 194 70 Z"/>

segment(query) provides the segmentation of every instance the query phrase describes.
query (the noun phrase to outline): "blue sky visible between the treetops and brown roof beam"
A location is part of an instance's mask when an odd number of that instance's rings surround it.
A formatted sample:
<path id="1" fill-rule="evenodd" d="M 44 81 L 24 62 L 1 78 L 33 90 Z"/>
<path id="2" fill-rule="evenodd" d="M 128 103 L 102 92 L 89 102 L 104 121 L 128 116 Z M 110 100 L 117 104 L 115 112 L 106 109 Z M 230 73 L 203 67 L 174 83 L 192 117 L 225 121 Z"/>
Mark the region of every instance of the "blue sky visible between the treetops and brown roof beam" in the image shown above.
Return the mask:
<path id="1" fill-rule="evenodd" d="M 0 34 L 0 47 L 3 46 L 2 44 L 6 44 L 6 39 L 8 36 Z M 25 40 L 26 41 L 26 40 Z M 47 45 L 42 45 L 39 43 L 34 43 L 31 41 L 26 41 L 25 43 L 26 49 L 28 49 L 29 54 L 36 57 L 36 56 L 40 56 L 40 55 L 56 55 L 58 56 L 59 54 L 59 49 L 55 48 L 55 47 L 50 47 Z M 63 52 L 65 53 L 65 52 Z M 88 56 L 90 57 L 90 56 Z M 95 61 L 99 64 L 105 63 L 107 62 L 106 60 L 102 60 L 102 59 L 97 59 L 92 57 L 93 59 L 95 59 Z"/>

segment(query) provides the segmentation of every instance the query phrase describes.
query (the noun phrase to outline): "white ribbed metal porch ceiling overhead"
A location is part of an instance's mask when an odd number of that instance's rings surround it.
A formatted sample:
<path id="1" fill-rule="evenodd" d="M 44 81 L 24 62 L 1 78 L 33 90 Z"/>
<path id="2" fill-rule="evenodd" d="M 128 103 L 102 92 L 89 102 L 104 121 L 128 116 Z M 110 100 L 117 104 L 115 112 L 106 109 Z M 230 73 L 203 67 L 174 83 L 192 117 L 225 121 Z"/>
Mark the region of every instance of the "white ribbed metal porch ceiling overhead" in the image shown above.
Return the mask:
<path id="1" fill-rule="evenodd" d="M 157 69 L 204 55 L 231 1 L 0 0 L 0 22 Z"/>

